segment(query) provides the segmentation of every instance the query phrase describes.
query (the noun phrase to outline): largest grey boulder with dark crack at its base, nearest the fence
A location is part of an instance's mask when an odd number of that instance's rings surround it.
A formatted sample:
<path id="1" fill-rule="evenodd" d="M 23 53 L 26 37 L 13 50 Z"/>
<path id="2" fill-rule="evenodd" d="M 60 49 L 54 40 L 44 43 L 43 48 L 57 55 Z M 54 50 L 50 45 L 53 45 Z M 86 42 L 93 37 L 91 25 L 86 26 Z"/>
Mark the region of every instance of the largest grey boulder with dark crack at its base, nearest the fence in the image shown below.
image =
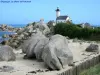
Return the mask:
<path id="1" fill-rule="evenodd" d="M 73 65 L 73 55 L 68 48 L 68 41 L 64 36 L 54 35 L 45 45 L 42 59 L 52 70 L 60 70 L 65 65 Z"/>

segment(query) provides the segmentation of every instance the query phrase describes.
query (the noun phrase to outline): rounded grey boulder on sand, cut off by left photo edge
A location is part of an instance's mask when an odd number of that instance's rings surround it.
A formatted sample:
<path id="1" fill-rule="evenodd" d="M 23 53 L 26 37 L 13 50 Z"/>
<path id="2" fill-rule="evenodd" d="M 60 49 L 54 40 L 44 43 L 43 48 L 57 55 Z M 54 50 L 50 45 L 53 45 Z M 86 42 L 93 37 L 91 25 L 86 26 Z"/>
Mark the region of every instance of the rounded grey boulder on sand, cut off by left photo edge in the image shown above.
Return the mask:
<path id="1" fill-rule="evenodd" d="M 0 46 L 0 61 L 14 61 L 15 59 L 13 48 L 7 45 Z"/>

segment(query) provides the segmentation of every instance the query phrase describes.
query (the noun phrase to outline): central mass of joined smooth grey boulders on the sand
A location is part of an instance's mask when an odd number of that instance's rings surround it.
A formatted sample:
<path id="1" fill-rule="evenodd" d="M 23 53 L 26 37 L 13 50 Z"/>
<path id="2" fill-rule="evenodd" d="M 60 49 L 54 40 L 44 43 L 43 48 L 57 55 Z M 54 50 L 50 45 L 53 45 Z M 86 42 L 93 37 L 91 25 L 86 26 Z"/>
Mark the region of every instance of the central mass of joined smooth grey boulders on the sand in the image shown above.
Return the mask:
<path id="1" fill-rule="evenodd" d="M 42 60 L 52 70 L 60 70 L 65 65 L 73 65 L 73 55 L 68 48 L 66 37 L 54 35 L 50 39 L 39 30 L 22 45 L 24 58 Z"/>

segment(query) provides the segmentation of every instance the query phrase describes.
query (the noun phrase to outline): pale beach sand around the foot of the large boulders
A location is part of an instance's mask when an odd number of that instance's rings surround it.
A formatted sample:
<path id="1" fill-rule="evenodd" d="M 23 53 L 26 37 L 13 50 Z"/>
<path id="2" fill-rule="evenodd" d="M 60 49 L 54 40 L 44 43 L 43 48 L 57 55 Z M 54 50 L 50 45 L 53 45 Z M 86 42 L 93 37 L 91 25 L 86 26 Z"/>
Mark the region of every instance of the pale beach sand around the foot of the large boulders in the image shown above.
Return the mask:
<path id="1" fill-rule="evenodd" d="M 73 53 L 75 65 L 97 55 L 95 52 L 85 52 L 86 47 L 89 45 L 90 43 L 87 42 L 81 42 L 80 44 L 79 42 L 72 42 L 72 40 L 69 40 L 68 46 Z M 43 62 L 39 62 L 36 59 L 23 59 L 24 54 L 22 54 L 21 50 L 14 50 L 14 52 L 16 53 L 16 61 L 0 62 L 0 67 L 12 66 L 14 69 L 8 72 L 0 71 L 0 75 L 57 75 L 57 73 L 61 73 L 71 67 L 65 66 L 65 69 L 61 71 L 48 71 Z"/>

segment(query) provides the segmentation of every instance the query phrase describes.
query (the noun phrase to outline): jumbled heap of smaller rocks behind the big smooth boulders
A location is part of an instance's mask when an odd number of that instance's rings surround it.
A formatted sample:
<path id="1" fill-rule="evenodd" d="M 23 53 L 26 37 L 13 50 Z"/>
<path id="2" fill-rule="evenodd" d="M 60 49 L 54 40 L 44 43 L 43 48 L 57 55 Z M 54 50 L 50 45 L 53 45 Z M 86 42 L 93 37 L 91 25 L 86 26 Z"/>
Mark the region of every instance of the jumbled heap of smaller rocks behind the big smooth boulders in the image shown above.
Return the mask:
<path id="1" fill-rule="evenodd" d="M 13 48 L 20 47 L 20 45 L 25 40 L 29 39 L 32 36 L 32 34 L 36 33 L 37 29 L 39 29 L 40 32 L 46 36 L 48 36 L 48 34 L 50 33 L 50 29 L 46 24 L 41 24 L 38 22 L 30 23 L 26 27 L 19 28 L 16 30 L 17 36 L 9 40 L 9 45 Z"/>

